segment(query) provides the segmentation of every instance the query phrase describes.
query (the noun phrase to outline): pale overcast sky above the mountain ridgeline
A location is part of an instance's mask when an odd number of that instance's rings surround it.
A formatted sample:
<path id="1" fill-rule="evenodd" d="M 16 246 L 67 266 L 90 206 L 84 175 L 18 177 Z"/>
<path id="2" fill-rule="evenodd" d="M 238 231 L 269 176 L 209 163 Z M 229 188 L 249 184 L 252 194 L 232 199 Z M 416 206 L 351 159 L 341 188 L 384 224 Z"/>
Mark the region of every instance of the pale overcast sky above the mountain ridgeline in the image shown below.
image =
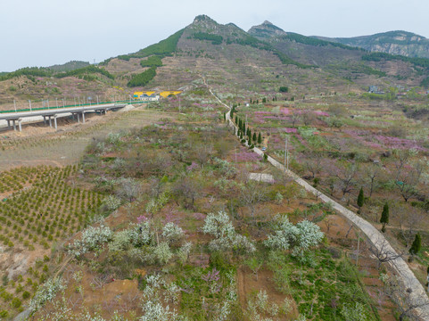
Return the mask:
<path id="1" fill-rule="evenodd" d="M 428 12 L 427 0 L 0 0 L 0 71 L 133 53 L 198 14 L 246 31 L 268 20 L 306 36 L 402 29 L 429 37 Z"/>

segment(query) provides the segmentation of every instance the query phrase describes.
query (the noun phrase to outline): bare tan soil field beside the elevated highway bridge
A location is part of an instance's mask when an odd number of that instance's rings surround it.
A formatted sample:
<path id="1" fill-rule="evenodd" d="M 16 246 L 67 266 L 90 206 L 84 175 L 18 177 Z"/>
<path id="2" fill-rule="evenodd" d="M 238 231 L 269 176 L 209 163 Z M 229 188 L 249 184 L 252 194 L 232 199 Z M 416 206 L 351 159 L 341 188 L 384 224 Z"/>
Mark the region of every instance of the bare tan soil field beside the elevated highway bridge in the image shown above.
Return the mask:
<path id="1" fill-rule="evenodd" d="M 0 138 L 0 170 L 43 164 L 70 165 L 80 159 L 92 140 L 176 117 L 175 113 L 144 110 L 142 106 L 127 112 L 92 116 L 85 124 L 62 120 L 57 131 L 45 127 L 43 122 L 25 125 L 21 133 L 8 131 Z"/>

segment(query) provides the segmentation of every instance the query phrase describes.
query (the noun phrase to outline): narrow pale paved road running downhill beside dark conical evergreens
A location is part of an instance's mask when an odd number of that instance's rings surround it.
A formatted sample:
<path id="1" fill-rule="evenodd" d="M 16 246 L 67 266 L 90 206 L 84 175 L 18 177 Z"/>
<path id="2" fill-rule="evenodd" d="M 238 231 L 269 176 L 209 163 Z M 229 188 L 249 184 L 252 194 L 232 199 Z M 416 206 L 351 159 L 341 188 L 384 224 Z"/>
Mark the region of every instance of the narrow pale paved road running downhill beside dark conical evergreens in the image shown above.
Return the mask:
<path id="1" fill-rule="evenodd" d="M 203 81 L 204 81 L 204 84 L 206 84 L 204 78 L 203 78 Z M 236 128 L 234 122 L 230 118 L 231 111 L 229 106 L 227 106 L 227 104 L 225 103 L 222 103 L 218 98 L 218 96 L 213 94 L 210 86 L 207 86 L 207 87 L 209 88 L 211 95 L 213 95 L 219 101 L 219 103 L 227 107 L 227 109 L 229 110 L 227 111 L 228 124 Z M 237 132 L 237 130 L 235 130 L 235 132 Z M 262 152 L 257 147 L 253 148 L 253 152 L 256 152 L 261 157 L 264 154 L 264 152 Z M 268 161 L 277 169 L 284 171 L 286 175 L 288 175 L 289 177 L 292 177 L 293 180 L 299 185 L 301 185 L 307 192 L 313 193 L 322 202 L 330 203 L 334 208 L 334 210 L 342 214 L 345 218 L 349 219 L 354 224 L 354 226 L 359 227 L 359 229 L 365 235 L 367 235 L 367 239 L 377 248 L 378 251 L 382 251 L 384 253 L 390 253 L 391 255 L 396 254 L 396 251 L 392 248 L 392 245 L 384 238 L 384 235 L 381 234 L 374 226 L 372 226 L 372 224 L 367 222 L 367 220 L 360 218 L 356 213 L 346 209 L 338 202 L 335 202 L 334 200 L 326 196 L 324 193 L 319 192 L 316 188 L 309 185 L 309 183 L 307 183 L 301 177 L 293 173 L 291 170 L 286 170 L 284 165 L 282 165 L 280 162 L 276 161 L 272 157 L 268 156 Z M 398 257 L 397 259 L 393 259 L 389 263 L 391 264 L 392 268 L 396 271 L 398 276 L 400 276 L 404 284 L 404 290 L 407 290 L 408 292 L 411 291 L 409 293 L 409 299 L 411 302 L 413 302 L 413 304 L 415 304 L 418 307 L 415 309 L 415 311 L 417 312 L 417 315 L 421 317 L 422 320 L 429 320 L 429 298 L 427 297 L 427 294 L 425 292 L 425 288 L 423 287 L 423 285 L 420 284 L 420 282 L 417 280 L 417 277 L 408 267 L 408 264 L 401 257 Z"/>

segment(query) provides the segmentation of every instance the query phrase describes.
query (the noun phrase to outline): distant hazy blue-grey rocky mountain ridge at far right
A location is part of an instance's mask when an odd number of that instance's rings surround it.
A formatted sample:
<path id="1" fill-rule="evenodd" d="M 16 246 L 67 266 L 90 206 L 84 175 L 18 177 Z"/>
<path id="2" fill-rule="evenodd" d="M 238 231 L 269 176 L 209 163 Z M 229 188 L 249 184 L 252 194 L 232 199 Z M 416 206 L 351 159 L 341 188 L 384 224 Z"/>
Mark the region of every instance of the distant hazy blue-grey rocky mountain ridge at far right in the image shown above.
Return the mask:
<path id="1" fill-rule="evenodd" d="M 407 31 L 389 31 L 361 37 L 317 37 L 321 40 L 358 46 L 370 52 L 429 58 L 429 39 Z"/>

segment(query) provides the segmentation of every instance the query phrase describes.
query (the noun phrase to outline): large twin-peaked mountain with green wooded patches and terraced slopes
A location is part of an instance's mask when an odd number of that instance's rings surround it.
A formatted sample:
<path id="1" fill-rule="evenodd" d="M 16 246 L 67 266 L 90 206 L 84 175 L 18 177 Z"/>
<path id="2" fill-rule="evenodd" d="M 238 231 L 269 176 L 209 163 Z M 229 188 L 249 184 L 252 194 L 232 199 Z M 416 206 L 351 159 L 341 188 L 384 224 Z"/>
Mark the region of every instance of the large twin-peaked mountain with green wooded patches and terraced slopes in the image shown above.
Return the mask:
<path id="1" fill-rule="evenodd" d="M 417 35 L 411 38 L 409 42 L 427 40 Z M 403 41 L 398 34 L 396 41 Z M 237 93 L 273 95 L 280 86 L 293 88 L 294 95 L 301 96 L 362 93 L 370 85 L 429 86 L 428 59 L 370 53 L 359 48 L 360 44 L 306 37 L 268 21 L 246 32 L 234 23 L 220 24 L 199 15 L 156 44 L 96 66 L 68 62 L 0 75 L 0 103 L 73 97 L 76 93 L 111 97 L 142 88 L 191 87 L 201 82 L 202 75 L 212 84 L 233 87 Z M 390 43 L 391 47 L 395 44 Z"/>

